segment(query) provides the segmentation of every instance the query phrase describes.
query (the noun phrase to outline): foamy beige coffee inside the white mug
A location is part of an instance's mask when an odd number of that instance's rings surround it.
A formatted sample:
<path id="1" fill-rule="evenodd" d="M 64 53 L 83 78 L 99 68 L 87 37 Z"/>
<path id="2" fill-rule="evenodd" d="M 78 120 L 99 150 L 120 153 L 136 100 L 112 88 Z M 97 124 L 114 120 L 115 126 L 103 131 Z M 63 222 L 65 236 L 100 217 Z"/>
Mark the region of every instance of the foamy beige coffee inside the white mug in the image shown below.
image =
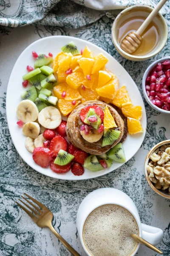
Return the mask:
<path id="1" fill-rule="evenodd" d="M 85 247 L 92 256 L 130 256 L 138 245 L 130 234 L 139 235 L 136 220 L 115 204 L 96 208 L 83 227 Z"/>

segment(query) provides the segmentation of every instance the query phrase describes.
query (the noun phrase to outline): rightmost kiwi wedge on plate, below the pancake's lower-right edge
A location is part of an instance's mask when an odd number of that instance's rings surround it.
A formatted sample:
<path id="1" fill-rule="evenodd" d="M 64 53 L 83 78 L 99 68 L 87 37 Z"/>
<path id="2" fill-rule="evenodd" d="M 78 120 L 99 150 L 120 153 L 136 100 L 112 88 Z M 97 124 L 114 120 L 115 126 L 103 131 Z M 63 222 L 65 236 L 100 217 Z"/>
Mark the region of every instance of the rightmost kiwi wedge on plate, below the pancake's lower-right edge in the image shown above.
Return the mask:
<path id="1" fill-rule="evenodd" d="M 122 143 L 118 143 L 114 148 L 111 148 L 108 151 L 108 157 L 116 162 L 125 163 L 126 157 Z"/>

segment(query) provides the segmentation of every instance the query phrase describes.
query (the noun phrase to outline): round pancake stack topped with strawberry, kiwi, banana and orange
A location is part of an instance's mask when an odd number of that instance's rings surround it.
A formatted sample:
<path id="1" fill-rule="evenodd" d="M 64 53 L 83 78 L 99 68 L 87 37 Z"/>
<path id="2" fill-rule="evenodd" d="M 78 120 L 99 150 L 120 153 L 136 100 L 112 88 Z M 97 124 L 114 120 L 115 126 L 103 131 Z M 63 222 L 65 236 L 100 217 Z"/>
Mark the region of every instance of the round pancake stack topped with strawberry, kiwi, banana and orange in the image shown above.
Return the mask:
<path id="1" fill-rule="evenodd" d="M 115 108 L 105 102 L 88 101 L 72 111 L 66 134 L 74 146 L 87 153 L 101 155 L 120 142 L 124 126 Z"/>

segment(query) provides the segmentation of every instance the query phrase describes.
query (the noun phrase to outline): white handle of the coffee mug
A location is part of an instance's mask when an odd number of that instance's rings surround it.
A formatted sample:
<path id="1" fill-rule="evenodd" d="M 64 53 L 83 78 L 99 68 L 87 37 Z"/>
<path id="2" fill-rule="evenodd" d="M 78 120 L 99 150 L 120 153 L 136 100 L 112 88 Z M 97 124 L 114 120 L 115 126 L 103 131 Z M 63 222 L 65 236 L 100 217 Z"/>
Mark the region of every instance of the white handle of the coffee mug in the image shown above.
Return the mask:
<path id="1" fill-rule="evenodd" d="M 150 244 L 157 245 L 161 242 L 163 231 L 158 227 L 148 226 L 142 223 L 142 238 Z"/>

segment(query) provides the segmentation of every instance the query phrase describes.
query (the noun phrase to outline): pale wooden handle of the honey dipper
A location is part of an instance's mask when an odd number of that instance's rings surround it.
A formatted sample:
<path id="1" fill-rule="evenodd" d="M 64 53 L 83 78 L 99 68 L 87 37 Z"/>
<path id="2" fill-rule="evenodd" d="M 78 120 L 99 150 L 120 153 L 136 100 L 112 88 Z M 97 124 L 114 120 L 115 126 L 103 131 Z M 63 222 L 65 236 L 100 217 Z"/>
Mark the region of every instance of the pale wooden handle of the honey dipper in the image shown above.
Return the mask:
<path id="1" fill-rule="evenodd" d="M 147 28 L 147 26 L 150 24 L 150 22 L 153 20 L 153 18 L 158 14 L 159 10 L 162 8 L 162 6 L 167 2 L 167 0 L 160 0 L 157 6 L 153 9 L 153 11 L 150 13 L 150 15 L 144 20 L 144 23 L 139 27 L 139 29 L 136 31 L 137 35 L 141 35 L 144 30 Z"/>

